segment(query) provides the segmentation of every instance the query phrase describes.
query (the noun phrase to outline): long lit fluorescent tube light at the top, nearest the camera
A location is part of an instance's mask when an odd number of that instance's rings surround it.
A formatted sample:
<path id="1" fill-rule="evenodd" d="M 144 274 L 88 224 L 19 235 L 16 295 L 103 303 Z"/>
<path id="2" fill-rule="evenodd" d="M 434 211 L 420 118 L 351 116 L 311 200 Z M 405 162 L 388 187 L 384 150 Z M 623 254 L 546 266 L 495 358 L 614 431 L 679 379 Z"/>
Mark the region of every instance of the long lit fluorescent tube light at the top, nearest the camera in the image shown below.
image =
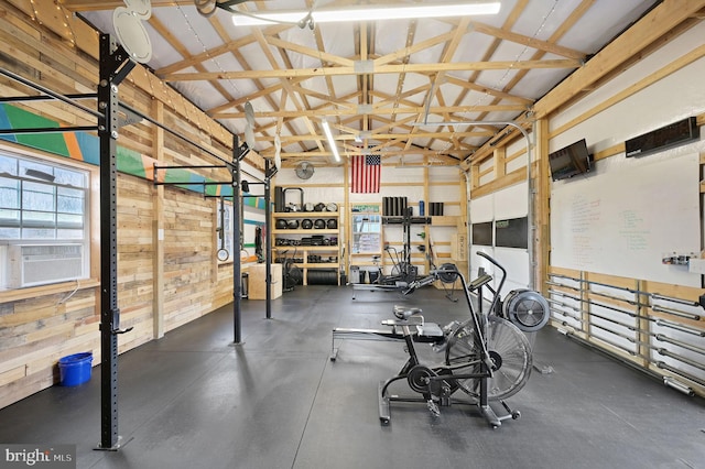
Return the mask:
<path id="1" fill-rule="evenodd" d="M 362 6 L 340 9 L 316 9 L 311 11 L 314 23 L 354 22 L 375 20 L 403 20 L 412 18 L 447 18 L 468 17 L 478 14 L 497 14 L 500 2 L 451 2 L 443 4 L 395 4 L 395 6 Z M 236 12 L 232 23 L 236 26 L 253 26 L 271 23 L 299 23 L 308 15 L 306 10 L 281 10 L 265 12 Z"/>

